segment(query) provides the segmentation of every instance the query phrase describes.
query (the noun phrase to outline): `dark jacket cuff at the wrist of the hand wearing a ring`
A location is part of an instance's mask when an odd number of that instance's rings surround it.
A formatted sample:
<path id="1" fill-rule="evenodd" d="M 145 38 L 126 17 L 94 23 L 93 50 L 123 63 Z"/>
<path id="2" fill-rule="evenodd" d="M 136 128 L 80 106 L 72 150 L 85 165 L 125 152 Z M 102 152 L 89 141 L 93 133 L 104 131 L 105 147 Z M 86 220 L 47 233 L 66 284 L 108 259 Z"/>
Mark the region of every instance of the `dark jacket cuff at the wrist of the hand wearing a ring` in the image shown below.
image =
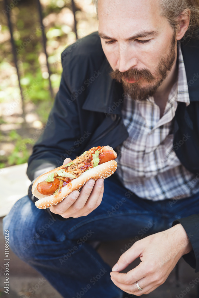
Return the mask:
<path id="1" fill-rule="evenodd" d="M 193 250 L 183 255 L 183 259 L 192 267 L 195 272 L 199 271 L 199 214 L 180 218 L 173 222 L 172 226 L 181 224 L 186 231 L 192 244 Z"/>

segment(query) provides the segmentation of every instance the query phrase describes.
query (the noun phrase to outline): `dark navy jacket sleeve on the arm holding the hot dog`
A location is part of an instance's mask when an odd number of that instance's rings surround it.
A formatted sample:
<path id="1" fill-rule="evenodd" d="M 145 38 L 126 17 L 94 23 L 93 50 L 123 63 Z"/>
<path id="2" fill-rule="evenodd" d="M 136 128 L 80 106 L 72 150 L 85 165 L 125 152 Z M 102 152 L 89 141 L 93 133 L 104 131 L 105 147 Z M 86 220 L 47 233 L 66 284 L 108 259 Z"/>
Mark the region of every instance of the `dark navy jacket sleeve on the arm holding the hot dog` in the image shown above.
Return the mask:
<path id="1" fill-rule="evenodd" d="M 53 108 L 48 117 L 45 129 L 38 131 L 41 134 L 33 146 L 33 153 L 28 160 L 27 176 L 32 181 L 47 171 L 63 164 L 65 158 L 75 159 L 80 155 L 80 148 L 74 143 L 81 137 L 78 108 L 75 101 L 71 101 L 72 93 L 67 86 L 67 70 L 63 71 L 59 91 L 55 97 Z M 35 135 L 35 138 L 37 136 Z M 75 142 L 76 141 L 76 142 Z M 29 198 L 36 201 L 29 187 Z M 53 217 L 65 220 L 60 215 L 45 209 Z"/>

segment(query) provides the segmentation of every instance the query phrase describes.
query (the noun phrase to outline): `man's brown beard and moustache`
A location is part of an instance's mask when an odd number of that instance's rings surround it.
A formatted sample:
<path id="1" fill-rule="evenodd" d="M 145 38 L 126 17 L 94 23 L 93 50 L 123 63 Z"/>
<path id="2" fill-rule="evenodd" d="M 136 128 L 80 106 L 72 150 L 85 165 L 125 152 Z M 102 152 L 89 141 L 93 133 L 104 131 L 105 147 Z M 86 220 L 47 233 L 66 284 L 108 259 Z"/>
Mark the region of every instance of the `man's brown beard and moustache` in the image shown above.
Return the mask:
<path id="1" fill-rule="evenodd" d="M 157 69 L 155 70 L 155 76 L 148 69 L 129 69 L 126 72 L 120 72 L 118 69 L 113 70 L 110 73 L 112 79 L 122 83 L 124 93 L 128 94 L 134 100 L 146 100 L 149 96 L 152 96 L 161 85 L 163 80 L 166 79 L 168 73 L 172 69 L 173 63 L 175 62 L 176 53 L 176 40 L 175 34 L 172 37 L 169 54 L 161 58 Z M 156 79 L 158 77 L 158 79 Z M 135 80 L 138 82 L 128 83 L 125 79 L 131 81 Z M 142 87 L 139 80 L 145 80 L 148 83 L 153 83 L 151 86 Z"/>

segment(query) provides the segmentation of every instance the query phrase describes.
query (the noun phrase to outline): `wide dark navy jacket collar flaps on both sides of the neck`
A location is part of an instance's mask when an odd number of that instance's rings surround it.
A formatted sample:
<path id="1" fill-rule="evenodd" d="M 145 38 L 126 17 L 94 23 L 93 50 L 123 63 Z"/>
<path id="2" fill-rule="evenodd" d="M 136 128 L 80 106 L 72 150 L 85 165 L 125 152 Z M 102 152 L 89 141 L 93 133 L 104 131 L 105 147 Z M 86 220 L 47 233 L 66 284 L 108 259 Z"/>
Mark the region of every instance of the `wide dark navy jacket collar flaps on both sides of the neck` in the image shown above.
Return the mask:
<path id="1" fill-rule="evenodd" d="M 190 102 L 199 101 L 199 39 L 186 39 L 181 43 L 181 49 Z M 110 64 L 104 55 L 104 61 L 99 69 L 100 75 L 92 83 L 87 99 L 82 106 L 83 109 L 121 115 L 121 104 L 118 100 L 123 99 L 124 91 L 121 84 L 111 79 L 110 71 Z"/>

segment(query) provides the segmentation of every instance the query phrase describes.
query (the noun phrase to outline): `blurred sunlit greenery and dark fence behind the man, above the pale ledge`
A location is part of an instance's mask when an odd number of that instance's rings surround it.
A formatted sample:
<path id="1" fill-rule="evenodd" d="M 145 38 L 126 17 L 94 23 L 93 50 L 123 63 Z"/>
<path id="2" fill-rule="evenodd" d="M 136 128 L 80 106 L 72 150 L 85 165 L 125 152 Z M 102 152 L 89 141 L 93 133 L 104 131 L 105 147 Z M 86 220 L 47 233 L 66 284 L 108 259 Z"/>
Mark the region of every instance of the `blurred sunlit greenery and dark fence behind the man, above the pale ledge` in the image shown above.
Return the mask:
<path id="1" fill-rule="evenodd" d="M 0 168 L 27 162 L 59 88 L 61 52 L 76 38 L 98 30 L 92 0 L 40 0 L 41 7 L 38 3 L 0 0 Z"/>

